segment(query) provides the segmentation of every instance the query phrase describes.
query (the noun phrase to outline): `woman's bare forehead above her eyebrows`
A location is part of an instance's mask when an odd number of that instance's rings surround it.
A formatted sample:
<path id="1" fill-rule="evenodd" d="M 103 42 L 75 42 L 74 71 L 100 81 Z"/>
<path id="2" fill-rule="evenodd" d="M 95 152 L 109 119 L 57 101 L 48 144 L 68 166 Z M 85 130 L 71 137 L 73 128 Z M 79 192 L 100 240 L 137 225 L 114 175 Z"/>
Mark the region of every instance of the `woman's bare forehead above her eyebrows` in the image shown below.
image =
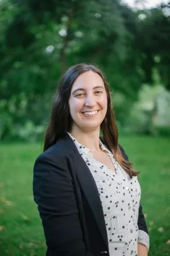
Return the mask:
<path id="1" fill-rule="evenodd" d="M 72 90 L 78 89 L 78 87 L 88 90 L 93 89 L 95 86 L 104 86 L 103 79 L 93 71 L 86 71 L 74 81 Z"/>

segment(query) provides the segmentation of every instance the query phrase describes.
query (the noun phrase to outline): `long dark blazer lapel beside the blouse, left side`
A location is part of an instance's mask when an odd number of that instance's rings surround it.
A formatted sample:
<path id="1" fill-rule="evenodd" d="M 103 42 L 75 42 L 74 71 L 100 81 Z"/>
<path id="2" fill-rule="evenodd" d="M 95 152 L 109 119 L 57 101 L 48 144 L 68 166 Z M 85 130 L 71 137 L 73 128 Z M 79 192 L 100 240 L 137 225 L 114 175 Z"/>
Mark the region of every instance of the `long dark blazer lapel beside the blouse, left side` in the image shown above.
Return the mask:
<path id="1" fill-rule="evenodd" d="M 93 175 L 91 174 L 88 166 L 86 166 L 84 159 L 82 159 L 76 145 L 74 145 L 74 142 L 69 137 L 69 135 L 66 134 L 63 139 L 60 139 L 60 142 L 63 146 L 65 146 L 66 149 L 71 150 L 73 153 L 71 159 L 78 182 L 89 203 L 90 208 L 92 209 L 92 213 L 96 219 L 99 230 L 101 231 L 101 235 L 106 243 L 106 246 L 108 247 L 105 218 L 103 216 L 101 200 Z"/>

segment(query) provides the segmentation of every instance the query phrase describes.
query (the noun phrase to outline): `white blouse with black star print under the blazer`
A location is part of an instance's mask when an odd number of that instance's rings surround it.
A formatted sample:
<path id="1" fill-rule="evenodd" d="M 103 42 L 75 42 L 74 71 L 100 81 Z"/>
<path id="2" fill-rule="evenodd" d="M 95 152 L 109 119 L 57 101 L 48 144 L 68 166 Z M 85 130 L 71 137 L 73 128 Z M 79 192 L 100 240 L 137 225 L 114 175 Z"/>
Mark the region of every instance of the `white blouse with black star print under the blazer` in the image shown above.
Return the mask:
<path id="1" fill-rule="evenodd" d="M 141 190 L 137 177 L 130 178 L 101 141 L 101 149 L 109 155 L 115 173 L 94 159 L 88 148 L 68 134 L 96 182 L 105 217 L 110 256 L 137 256 L 138 242 L 149 249 L 148 234 L 138 229 Z"/>

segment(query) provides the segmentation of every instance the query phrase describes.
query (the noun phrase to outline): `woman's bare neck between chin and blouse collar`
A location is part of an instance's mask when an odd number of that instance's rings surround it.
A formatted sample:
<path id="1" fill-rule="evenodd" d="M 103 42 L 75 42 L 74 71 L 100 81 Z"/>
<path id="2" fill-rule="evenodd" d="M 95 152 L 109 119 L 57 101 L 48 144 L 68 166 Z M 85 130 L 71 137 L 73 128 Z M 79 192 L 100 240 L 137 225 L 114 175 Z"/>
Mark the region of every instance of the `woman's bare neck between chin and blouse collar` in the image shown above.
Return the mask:
<path id="1" fill-rule="evenodd" d="M 71 135 L 82 145 L 87 147 L 90 151 L 100 151 L 99 147 L 99 133 L 100 127 L 93 131 L 85 132 L 80 130 L 78 127 L 73 127 L 69 131 Z"/>

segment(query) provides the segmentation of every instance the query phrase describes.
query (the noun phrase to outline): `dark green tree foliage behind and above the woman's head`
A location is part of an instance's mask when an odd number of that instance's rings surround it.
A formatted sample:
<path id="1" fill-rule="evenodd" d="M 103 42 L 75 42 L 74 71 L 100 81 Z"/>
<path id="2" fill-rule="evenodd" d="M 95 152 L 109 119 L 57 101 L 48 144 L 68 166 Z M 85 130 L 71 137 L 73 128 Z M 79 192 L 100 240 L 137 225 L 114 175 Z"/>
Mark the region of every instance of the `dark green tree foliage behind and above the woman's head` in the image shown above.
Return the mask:
<path id="1" fill-rule="evenodd" d="M 61 75 L 78 62 L 101 68 L 114 94 L 125 99 L 126 107 L 115 103 L 121 125 L 143 82 L 153 82 L 154 69 L 170 89 L 164 7 L 134 11 L 118 0 L 2 0 L 0 26 L 1 139 L 15 137 L 14 127 L 28 122 L 46 125 Z"/>

